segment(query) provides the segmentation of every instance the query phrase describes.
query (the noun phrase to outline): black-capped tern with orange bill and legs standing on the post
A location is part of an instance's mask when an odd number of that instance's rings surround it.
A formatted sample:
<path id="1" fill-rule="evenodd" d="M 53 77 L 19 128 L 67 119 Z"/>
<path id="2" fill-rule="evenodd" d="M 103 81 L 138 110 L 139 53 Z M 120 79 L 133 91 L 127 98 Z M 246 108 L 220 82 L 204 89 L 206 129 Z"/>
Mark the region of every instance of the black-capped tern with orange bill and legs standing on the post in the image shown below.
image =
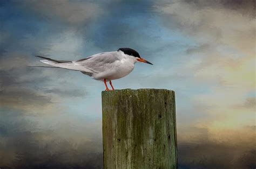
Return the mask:
<path id="1" fill-rule="evenodd" d="M 40 60 L 41 62 L 55 68 L 80 71 L 85 75 L 91 76 L 93 79 L 104 81 L 105 90 L 110 90 L 106 82 L 109 82 L 112 90 L 114 90 L 111 80 L 120 79 L 130 74 L 136 62 L 153 65 L 151 62 L 141 58 L 137 51 L 127 47 L 119 48 L 113 52 L 94 54 L 76 61 L 55 60 L 41 56 L 36 57 L 42 58 L 43 60 Z"/>

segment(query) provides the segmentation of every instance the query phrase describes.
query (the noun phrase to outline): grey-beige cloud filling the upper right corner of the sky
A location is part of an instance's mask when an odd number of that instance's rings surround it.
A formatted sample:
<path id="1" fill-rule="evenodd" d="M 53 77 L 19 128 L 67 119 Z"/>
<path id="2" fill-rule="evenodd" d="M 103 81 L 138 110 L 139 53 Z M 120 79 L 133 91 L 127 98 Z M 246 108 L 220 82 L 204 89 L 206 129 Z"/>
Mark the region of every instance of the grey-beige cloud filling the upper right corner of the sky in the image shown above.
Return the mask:
<path id="1" fill-rule="evenodd" d="M 255 48 L 255 19 L 250 15 L 242 15 L 238 9 L 225 8 L 225 5 L 221 4 L 222 1 L 201 5 L 205 4 L 204 2 L 174 1 L 164 5 L 157 4 L 156 9 L 163 15 L 164 25 L 194 37 L 200 44 L 210 43 L 213 47 L 224 45 L 252 54 Z M 248 8 L 254 6 L 251 1 L 242 4 Z M 239 9 L 242 9 L 242 6 Z"/>

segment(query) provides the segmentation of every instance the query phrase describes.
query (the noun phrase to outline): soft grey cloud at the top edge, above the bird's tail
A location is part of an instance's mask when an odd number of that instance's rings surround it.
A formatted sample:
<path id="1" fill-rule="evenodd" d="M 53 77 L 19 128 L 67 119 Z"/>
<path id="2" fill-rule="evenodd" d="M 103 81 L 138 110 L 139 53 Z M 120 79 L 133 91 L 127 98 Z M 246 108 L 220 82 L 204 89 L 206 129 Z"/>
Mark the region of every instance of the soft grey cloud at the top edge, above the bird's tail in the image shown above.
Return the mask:
<path id="1" fill-rule="evenodd" d="M 105 12 L 99 3 L 85 1 L 23 1 L 18 2 L 19 8 L 32 10 L 39 17 L 46 20 L 60 20 L 71 26 L 81 26 L 86 24 L 92 18 L 103 15 Z"/>

